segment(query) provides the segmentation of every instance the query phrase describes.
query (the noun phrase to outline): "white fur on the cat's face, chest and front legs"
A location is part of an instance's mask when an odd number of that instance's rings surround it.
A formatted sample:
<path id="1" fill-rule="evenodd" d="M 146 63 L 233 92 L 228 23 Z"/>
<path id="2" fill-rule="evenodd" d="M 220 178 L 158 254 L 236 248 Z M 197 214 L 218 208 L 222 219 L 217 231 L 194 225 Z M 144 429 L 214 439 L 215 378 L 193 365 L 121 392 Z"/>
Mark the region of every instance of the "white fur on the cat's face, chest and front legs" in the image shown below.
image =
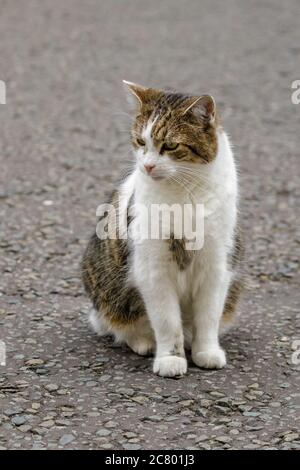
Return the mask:
<path id="1" fill-rule="evenodd" d="M 152 146 L 153 124 L 148 123 L 142 136 L 149 147 L 147 158 L 159 162 L 162 159 L 159 160 Z M 139 152 L 137 158 L 141 156 Z M 189 332 L 187 339 L 195 363 L 200 367 L 223 367 L 226 359 L 219 346 L 219 327 L 233 275 L 227 259 L 234 243 L 238 197 L 237 173 L 227 135 L 218 132 L 215 160 L 198 165 L 190 186 L 157 182 L 137 165 L 120 192 L 127 201 L 134 194 L 135 203 L 147 207 L 204 204 L 204 246 L 195 253 L 191 264 L 180 271 L 165 240 L 133 242 L 128 282 L 140 291 L 155 332 L 155 372 L 164 376 L 186 372 L 186 360 L 178 357 L 182 355 L 178 350 L 183 350 L 183 324 Z M 138 223 L 137 216 L 132 224 Z"/>

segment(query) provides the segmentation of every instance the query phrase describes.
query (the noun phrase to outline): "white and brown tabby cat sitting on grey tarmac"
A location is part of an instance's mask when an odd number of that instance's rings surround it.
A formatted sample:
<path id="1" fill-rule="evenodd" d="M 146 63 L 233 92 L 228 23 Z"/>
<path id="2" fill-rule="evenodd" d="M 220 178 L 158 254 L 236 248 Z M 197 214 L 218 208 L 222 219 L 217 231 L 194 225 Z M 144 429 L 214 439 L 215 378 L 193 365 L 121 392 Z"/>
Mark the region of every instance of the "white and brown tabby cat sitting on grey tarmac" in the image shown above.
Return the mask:
<path id="1" fill-rule="evenodd" d="M 134 240 L 95 233 L 82 261 L 94 308 L 90 323 L 137 354 L 154 354 L 153 372 L 187 372 L 185 348 L 200 368 L 222 368 L 220 334 L 236 317 L 243 289 L 238 178 L 232 148 L 210 95 L 124 82 L 136 103 L 131 129 L 135 164 L 110 203 L 139 221 L 137 205 L 204 205 L 204 242 L 184 237 Z M 120 202 L 121 201 L 121 202 Z M 122 208 L 120 207 L 122 206 Z M 109 216 L 108 216 L 109 217 Z"/>

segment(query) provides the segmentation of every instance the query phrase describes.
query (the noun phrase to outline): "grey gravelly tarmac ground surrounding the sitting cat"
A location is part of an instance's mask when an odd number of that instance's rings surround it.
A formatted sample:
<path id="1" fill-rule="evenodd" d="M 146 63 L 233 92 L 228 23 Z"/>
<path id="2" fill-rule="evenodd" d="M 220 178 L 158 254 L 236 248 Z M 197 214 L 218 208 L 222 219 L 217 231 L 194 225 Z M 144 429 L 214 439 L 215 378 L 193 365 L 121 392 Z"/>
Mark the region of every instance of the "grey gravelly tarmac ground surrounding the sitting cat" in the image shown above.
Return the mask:
<path id="1" fill-rule="evenodd" d="M 299 449 L 299 1 L 0 7 L 0 449 Z M 130 158 L 123 78 L 212 93 L 235 144 L 250 277 L 222 371 L 156 377 L 87 325 L 79 261 Z"/>

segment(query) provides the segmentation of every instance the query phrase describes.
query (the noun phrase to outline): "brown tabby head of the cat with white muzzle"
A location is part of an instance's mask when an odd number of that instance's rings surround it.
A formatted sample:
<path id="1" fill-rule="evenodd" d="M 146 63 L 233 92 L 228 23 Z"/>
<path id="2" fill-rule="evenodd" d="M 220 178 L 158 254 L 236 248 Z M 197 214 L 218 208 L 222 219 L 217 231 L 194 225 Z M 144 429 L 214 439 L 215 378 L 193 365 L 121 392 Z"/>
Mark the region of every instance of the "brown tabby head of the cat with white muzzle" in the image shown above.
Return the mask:
<path id="1" fill-rule="evenodd" d="M 187 177 L 215 159 L 217 116 L 212 96 L 124 83 L 137 105 L 131 135 L 142 173 L 157 180 L 175 179 L 176 174 Z"/>

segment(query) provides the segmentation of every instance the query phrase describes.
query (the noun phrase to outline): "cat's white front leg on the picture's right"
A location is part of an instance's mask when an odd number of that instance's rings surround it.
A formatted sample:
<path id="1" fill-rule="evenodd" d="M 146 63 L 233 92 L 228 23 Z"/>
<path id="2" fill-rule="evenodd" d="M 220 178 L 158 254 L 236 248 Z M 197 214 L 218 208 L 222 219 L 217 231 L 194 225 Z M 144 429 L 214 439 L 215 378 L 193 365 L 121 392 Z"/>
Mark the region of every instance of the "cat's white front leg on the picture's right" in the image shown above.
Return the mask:
<path id="1" fill-rule="evenodd" d="M 226 365 L 225 352 L 219 345 L 219 324 L 229 283 L 226 263 L 219 261 L 210 269 L 194 299 L 192 359 L 205 369 L 221 369 Z"/>

